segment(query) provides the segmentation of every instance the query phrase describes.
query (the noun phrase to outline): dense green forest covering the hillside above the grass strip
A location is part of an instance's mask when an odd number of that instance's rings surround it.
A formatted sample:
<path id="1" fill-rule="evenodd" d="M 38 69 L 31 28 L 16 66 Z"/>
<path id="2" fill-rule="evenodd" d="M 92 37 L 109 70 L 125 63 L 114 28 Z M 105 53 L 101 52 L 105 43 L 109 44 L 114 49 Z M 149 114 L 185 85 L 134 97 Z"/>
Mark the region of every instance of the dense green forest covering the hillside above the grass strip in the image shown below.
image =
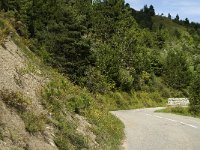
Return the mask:
<path id="1" fill-rule="evenodd" d="M 33 51 L 92 92 L 150 90 L 157 77 L 187 89 L 199 63 L 193 59 L 199 24 L 158 18 L 152 5 L 135 11 L 124 0 L 5 0 L 0 6 L 13 12 Z"/>

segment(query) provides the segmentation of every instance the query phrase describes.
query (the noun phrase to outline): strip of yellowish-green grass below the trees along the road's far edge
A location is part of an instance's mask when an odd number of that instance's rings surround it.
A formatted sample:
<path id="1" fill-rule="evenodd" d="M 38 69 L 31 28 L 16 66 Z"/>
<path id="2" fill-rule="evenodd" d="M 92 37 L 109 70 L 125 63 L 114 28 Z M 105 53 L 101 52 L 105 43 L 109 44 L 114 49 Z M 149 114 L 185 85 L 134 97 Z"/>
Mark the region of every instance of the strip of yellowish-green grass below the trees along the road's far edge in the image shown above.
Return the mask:
<path id="1" fill-rule="evenodd" d="M 166 100 L 162 97 L 162 94 L 156 91 L 133 91 L 131 93 L 116 91 L 105 95 L 97 94 L 96 98 L 102 109 L 108 110 L 148 108 L 165 106 L 166 104 Z"/>

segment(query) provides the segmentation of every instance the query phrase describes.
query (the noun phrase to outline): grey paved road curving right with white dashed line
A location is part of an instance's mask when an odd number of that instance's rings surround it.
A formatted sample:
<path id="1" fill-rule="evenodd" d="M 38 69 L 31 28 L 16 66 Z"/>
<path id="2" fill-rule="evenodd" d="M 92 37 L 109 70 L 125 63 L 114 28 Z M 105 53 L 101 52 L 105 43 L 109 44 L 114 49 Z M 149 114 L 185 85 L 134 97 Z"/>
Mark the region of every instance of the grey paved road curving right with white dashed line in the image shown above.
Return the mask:
<path id="1" fill-rule="evenodd" d="M 112 112 L 125 125 L 125 150 L 200 150 L 200 119 L 157 109 Z"/>

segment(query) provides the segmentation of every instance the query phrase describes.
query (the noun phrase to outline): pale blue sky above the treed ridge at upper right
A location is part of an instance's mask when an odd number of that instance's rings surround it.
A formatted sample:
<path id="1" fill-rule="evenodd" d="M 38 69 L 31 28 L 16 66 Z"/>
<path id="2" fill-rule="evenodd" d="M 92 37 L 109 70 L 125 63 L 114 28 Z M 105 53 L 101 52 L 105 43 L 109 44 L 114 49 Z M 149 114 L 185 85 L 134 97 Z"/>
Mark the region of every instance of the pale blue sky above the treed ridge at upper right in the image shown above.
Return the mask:
<path id="1" fill-rule="evenodd" d="M 200 0 L 125 0 L 136 10 L 140 10 L 144 5 L 153 5 L 156 14 L 170 13 L 172 17 L 177 14 L 180 19 L 188 18 L 190 21 L 200 23 Z"/>

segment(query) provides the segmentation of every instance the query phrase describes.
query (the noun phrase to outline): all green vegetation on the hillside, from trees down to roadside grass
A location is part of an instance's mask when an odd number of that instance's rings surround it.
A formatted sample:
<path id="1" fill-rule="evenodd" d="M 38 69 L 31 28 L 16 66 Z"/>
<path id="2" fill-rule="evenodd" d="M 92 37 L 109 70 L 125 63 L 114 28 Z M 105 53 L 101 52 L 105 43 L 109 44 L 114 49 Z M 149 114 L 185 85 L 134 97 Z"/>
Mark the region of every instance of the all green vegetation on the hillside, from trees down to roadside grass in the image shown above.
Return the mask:
<path id="1" fill-rule="evenodd" d="M 28 58 L 18 72 L 47 78 L 40 100 L 51 115 L 34 114 L 19 93 L 2 91 L 1 99 L 30 133 L 52 125 L 59 149 L 91 148 L 89 137 L 76 131 L 76 114 L 92 125 L 99 149 L 119 149 L 123 138 L 110 110 L 190 96 L 189 109 L 163 111 L 198 115 L 198 23 L 157 16 L 152 5 L 136 11 L 124 0 L 3 0 L 0 10 L 0 44 L 13 32 Z"/>

